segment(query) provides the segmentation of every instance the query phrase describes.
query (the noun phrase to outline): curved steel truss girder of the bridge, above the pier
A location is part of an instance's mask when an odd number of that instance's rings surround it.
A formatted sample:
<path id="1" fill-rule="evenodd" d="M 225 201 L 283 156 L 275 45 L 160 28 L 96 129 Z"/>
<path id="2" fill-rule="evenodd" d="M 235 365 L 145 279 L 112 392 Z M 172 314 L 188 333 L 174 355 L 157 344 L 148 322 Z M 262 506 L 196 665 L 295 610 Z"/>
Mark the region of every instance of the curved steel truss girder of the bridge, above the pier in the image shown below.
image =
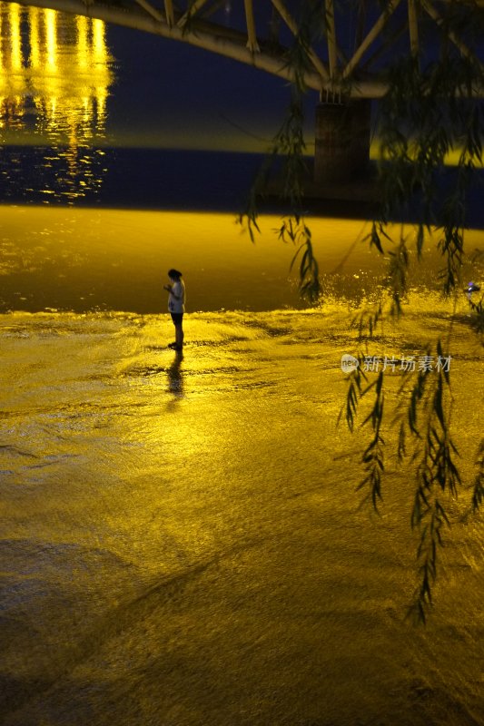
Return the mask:
<path id="1" fill-rule="evenodd" d="M 11 0 L 7 0 L 10 2 Z M 293 80 L 289 63 L 291 44 L 300 34 L 291 0 L 15 0 L 18 5 L 51 8 L 73 15 L 98 18 L 105 23 L 160 35 L 224 55 L 262 71 Z M 420 29 L 433 33 L 434 52 L 443 45 L 452 52 L 472 56 L 480 65 L 482 49 L 447 32 L 444 17 L 450 0 L 321 0 L 317 18 L 319 37 L 305 45 L 308 65 L 303 74 L 308 88 L 321 97 L 345 93 L 354 98 L 379 98 L 386 93 L 385 54 L 416 58 L 429 54 Z M 454 7 L 473 7 L 483 23 L 484 0 L 453 0 Z M 316 7 L 317 4 L 312 4 Z M 229 13 L 230 11 L 230 13 Z M 229 15 L 232 18 L 229 20 Z M 269 20 L 268 20 L 269 19 Z M 349 25 L 353 24 L 352 32 Z M 279 34 L 274 28 L 279 26 Z M 351 38 L 349 40 L 349 36 Z M 280 37 L 283 36 L 283 37 Z M 439 40 L 440 39 L 440 40 Z M 397 45 L 398 44 L 398 45 Z M 475 93 L 482 95 L 481 90 Z"/>

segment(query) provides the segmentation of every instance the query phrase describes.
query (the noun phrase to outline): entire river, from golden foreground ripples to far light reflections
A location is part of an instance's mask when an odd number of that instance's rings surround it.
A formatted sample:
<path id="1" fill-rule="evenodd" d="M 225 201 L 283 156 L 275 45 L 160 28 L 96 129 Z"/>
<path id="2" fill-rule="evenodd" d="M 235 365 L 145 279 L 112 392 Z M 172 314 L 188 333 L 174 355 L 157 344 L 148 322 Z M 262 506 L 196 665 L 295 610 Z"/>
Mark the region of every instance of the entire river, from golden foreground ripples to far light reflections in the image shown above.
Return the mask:
<path id="1" fill-rule="evenodd" d="M 50 38 L 54 16 L 35 17 L 30 27 Z M 324 298 L 301 302 L 279 217 L 263 216 L 255 244 L 235 221 L 255 158 L 194 164 L 96 143 L 113 72 L 99 64 L 101 50 L 112 53 L 101 30 L 63 31 L 92 39 L 91 105 L 73 74 L 56 105 L 5 96 L 1 722 L 483 724 L 484 527 L 469 514 L 469 486 L 484 367 L 468 299 L 440 298 L 441 260 L 426 249 L 402 319 L 359 342 L 353 320 L 384 299 L 388 260 L 363 241 L 368 223 L 328 217 L 310 220 Z M 25 44 L 10 35 L 9 77 L 32 84 L 18 62 Z M 42 63 L 60 64 L 63 47 Z M 66 126 L 78 107 L 91 121 Z M 54 128 L 84 136 L 55 145 Z M 143 188 L 123 186 L 127 160 Z M 484 250 L 483 232 L 469 231 L 467 245 L 463 280 L 482 285 L 482 257 L 470 252 Z M 172 266 L 187 286 L 183 356 L 166 347 Z M 418 535 L 414 470 L 395 456 L 390 421 L 399 369 L 385 384 L 380 515 L 355 491 L 370 432 L 336 423 L 343 354 L 419 360 L 437 338 L 450 356 L 463 486 L 422 628 L 406 619 Z"/>

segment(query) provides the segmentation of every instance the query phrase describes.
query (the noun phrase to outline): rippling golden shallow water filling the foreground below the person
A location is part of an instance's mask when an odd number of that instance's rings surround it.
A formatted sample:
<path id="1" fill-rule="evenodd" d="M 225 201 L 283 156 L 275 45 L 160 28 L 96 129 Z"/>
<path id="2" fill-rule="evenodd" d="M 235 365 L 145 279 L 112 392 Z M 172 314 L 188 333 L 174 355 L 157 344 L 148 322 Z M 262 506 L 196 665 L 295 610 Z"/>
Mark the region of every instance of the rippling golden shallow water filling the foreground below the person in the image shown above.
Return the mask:
<path id="1" fill-rule="evenodd" d="M 448 330 L 438 299 L 413 302 L 372 352 Z M 411 477 L 390 457 L 381 517 L 359 509 L 361 435 L 335 426 L 345 306 L 193 313 L 183 358 L 165 316 L 11 313 L 0 330 L 5 726 L 483 722 L 481 517 L 446 533 L 414 629 Z M 465 306 L 452 339 L 468 482 L 482 365 Z"/>

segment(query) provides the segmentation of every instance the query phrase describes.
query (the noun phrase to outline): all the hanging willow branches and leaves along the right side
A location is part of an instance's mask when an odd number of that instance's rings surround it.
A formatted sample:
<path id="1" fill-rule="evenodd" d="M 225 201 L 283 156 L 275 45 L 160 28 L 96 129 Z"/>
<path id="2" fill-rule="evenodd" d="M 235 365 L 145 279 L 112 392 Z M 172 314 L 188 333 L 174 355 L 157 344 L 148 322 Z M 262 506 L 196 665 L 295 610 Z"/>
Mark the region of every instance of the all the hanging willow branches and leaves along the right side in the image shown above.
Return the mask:
<path id="1" fill-rule="evenodd" d="M 325 32 L 327 4 L 305 0 L 301 4 L 299 32 L 295 35 L 287 63 L 294 74 L 291 103 L 276 134 L 270 154 L 252 187 L 240 221 L 247 223 L 253 240 L 258 230 L 258 198 L 265 186 L 272 163 L 283 159 L 284 187 L 282 196 L 289 212 L 282 220 L 280 236 L 297 246 L 301 258 L 300 289 L 311 302 L 321 296 L 318 264 L 314 259 L 311 229 L 304 220 L 303 179 L 306 174 L 303 155 L 303 95 L 306 91 L 304 73 L 311 65 L 310 48 Z M 344 2 L 340 3 L 341 6 Z M 422 2 L 416 2 L 422 11 Z M 388 4 L 381 3 L 384 9 Z M 423 11 L 422 11 L 423 12 Z M 388 92 L 379 103 L 377 135 L 380 139 L 380 211 L 371 223 L 368 241 L 381 255 L 388 256 L 389 268 L 385 285 L 388 302 L 377 309 L 365 311 L 359 320 L 360 339 L 371 338 L 389 316 L 402 314 L 401 301 L 407 290 L 410 249 L 409 234 L 400 227 L 400 236 L 393 239 L 391 222 L 403 215 L 413 215 L 414 241 L 418 260 L 431 232 L 438 232 L 437 245 L 442 257 L 441 289 L 445 296 L 461 291 L 460 270 L 465 256 L 466 210 L 470 185 L 475 170 L 482 165 L 481 135 L 484 112 L 484 68 L 472 48 L 484 37 L 484 11 L 472 0 L 445 4 L 440 18 L 440 58 L 426 62 L 418 54 L 396 57 L 388 68 Z M 453 39 L 456 34 L 466 39 L 469 52 L 463 53 Z M 340 86 L 348 92 L 351 78 Z M 443 188 L 440 180 L 446 175 L 449 152 L 459 150 L 454 182 Z M 390 231 L 391 230 L 391 231 Z M 434 239 L 434 238 L 431 238 Z M 484 330 L 483 298 L 469 295 L 469 309 L 474 328 Z M 442 530 L 449 524 L 449 501 L 461 486 L 458 448 L 450 432 L 452 409 L 451 382 L 445 361 L 449 359 L 451 337 L 444 347 L 439 340 L 435 350 L 440 361 L 437 375 L 430 368 L 418 371 L 413 385 L 404 376 L 396 411 L 400 433 L 397 456 L 402 462 L 410 459 L 415 475 L 412 528 L 420 533 L 417 550 L 418 585 L 410 606 L 420 623 L 425 623 L 432 603 L 432 586 L 438 572 Z M 430 358 L 431 351 L 427 351 Z M 382 436 L 388 412 L 384 407 L 385 376 L 383 371 L 365 373 L 364 352 L 357 354 L 359 366 L 348 377 L 347 399 L 341 408 L 351 432 L 354 431 L 363 397 L 373 397 L 370 414 L 362 423 L 370 427 L 370 440 L 361 454 L 364 476 L 357 485 L 366 490 L 373 507 L 382 499 L 385 473 L 385 440 Z M 415 377 L 413 377 L 415 378 Z M 484 439 L 476 455 L 477 475 L 472 487 L 472 508 L 484 503 Z"/>

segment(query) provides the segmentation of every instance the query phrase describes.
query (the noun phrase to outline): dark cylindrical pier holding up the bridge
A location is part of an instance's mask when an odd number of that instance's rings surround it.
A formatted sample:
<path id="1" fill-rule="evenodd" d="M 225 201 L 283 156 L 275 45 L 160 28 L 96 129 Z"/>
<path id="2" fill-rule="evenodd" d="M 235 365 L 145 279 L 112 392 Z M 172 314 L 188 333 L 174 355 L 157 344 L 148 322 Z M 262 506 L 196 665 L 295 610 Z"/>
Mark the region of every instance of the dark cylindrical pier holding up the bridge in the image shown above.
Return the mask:
<path id="1" fill-rule="evenodd" d="M 370 160 L 370 100 L 319 103 L 316 107 L 314 182 L 344 184 L 361 175 Z"/>

